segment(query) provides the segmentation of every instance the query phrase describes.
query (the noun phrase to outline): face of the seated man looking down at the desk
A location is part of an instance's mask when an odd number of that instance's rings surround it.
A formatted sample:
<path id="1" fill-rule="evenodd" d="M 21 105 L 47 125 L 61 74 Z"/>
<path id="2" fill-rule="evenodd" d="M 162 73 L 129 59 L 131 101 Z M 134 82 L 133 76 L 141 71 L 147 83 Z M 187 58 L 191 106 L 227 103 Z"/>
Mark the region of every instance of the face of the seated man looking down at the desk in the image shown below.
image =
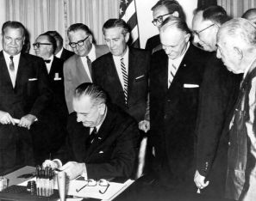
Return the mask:
<path id="1" fill-rule="evenodd" d="M 88 95 L 79 99 L 73 99 L 73 108 L 77 113 L 77 121 L 82 122 L 85 127 L 95 127 L 102 122 L 105 105 L 94 106 Z"/>

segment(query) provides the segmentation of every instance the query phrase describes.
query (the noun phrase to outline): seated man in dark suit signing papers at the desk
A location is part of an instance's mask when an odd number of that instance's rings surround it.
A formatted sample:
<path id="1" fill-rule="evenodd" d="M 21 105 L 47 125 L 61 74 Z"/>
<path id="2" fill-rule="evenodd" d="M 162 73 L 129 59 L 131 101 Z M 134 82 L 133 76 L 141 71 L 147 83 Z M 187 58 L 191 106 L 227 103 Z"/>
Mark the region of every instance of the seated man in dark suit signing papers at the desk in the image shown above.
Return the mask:
<path id="1" fill-rule="evenodd" d="M 66 146 L 59 159 L 43 166 L 58 167 L 70 180 L 79 175 L 87 179 L 131 177 L 139 146 L 136 122 L 119 107 L 109 104 L 107 94 L 96 84 L 84 82 L 72 99 L 75 113 L 67 123 Z"/>

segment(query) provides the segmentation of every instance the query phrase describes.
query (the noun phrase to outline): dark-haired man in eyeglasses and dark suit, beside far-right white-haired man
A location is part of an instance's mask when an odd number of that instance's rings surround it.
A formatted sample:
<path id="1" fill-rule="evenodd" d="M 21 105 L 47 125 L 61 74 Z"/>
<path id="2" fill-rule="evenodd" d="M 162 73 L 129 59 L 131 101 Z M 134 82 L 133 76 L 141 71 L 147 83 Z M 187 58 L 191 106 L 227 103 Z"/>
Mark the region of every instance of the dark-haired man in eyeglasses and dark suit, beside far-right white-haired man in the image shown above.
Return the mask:
<path id="1" fill-rule="evenodd" d="M 228 15 L 221 6 L 198 10 L 192 21 L 194 42 L 212 52 L 203 76 L 197 120 L 197 171 L 201 192 L 223 198 L 227 174 L 228 124 L 238 95 L 240 75 L 216 58 L 216 34 Z"/>

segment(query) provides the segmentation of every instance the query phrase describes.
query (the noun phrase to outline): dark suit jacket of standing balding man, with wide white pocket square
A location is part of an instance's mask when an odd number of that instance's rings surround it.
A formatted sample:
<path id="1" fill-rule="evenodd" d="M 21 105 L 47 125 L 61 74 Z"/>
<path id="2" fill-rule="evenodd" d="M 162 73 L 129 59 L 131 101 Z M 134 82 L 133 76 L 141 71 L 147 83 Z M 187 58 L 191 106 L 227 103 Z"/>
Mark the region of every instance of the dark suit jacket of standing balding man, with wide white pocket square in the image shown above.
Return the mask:
<path id="1" fill-rule="evenodd" d="M 187 176 L 192 181 L 198 94 L 205 57 L 204 52 L 190 44 L 168 88 L 168 57 L 164 50 L 153 54 L 149 76 L 151 143 L 156 150 L 157 171 L 167 182 L 170 177 L 178 182 Z M 185 84 L 195 86 L 186 88 Z"/>

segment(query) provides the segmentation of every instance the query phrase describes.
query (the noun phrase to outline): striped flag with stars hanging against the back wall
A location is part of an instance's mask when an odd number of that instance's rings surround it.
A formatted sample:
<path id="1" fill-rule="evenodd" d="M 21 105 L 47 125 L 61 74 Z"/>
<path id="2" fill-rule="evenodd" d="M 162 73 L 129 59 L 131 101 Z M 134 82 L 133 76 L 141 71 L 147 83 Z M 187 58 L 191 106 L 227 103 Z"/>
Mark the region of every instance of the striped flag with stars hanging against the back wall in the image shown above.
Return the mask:
<path id="1" fill-rule="evenodd" d="M 131 29 L 131 45 L 140 47 L 135 0 L 121 0 L 119 17 L 126 21 Z"/>

